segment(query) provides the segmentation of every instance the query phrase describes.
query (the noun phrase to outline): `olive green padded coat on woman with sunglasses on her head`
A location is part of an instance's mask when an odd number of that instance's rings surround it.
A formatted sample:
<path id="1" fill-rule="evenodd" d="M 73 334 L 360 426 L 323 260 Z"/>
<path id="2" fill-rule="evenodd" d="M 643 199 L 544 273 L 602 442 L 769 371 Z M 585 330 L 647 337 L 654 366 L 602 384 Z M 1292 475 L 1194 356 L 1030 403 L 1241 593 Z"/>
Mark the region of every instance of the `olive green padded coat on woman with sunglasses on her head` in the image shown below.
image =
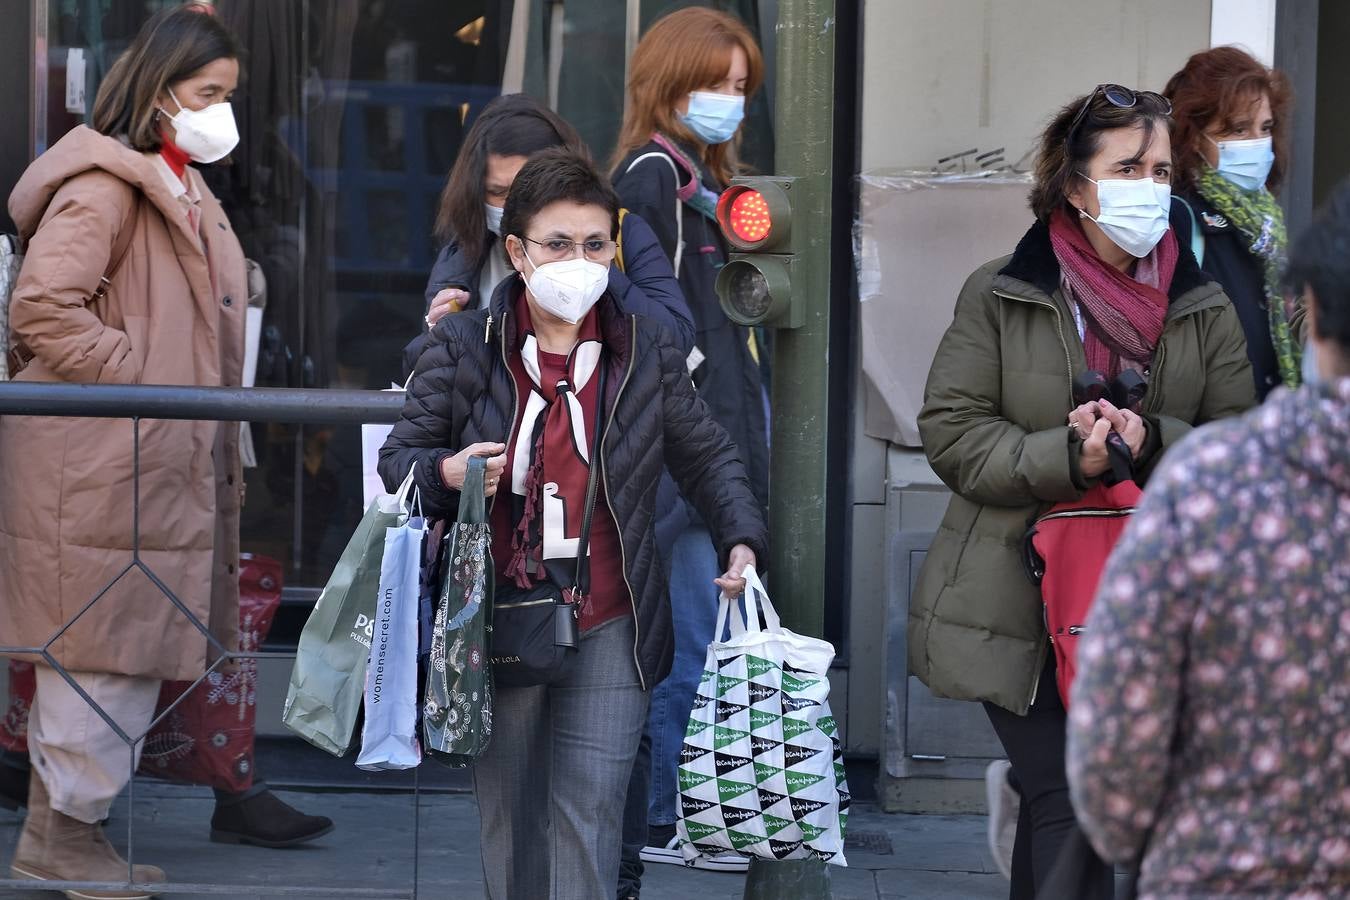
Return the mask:
<path id="1" fill-rule="evenodd" d="M 1256 402 L 1242 328 L 1223 291 L 1181 254 L 1141 416 L 1146 478 L 1195 425 Z M 1066 426 L 1083 341 L 1049 228 L 977 269 L 956 301 L 923 391 L 919 434 L 952 502 L 910 598 L 909 660 L 938 696 L 1025 715 L 1045 663 L 1041 591 L 1022 565 L 1027 524 L 1076 501 L 1081 441 Z"/>

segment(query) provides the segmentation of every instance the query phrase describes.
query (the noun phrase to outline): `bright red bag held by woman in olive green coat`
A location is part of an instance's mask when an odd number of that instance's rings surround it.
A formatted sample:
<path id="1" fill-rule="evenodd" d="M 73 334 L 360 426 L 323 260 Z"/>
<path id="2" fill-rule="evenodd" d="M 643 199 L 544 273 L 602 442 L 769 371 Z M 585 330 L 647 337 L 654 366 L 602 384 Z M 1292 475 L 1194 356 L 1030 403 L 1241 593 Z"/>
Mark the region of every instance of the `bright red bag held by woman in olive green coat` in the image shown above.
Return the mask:
<path id="1" fill-rule="evenodd" d="M 1081 499 L 1052 506 L 1023 540 L 1027 573 L 1041 586 L 1045 630 L 1057 665 L 1054 680 L 1065 710 L 1077 669 L 1079 636 L 1092 610 L 1102 569 L 1142 494 L 1133 480 L 1098 483 Z"/>

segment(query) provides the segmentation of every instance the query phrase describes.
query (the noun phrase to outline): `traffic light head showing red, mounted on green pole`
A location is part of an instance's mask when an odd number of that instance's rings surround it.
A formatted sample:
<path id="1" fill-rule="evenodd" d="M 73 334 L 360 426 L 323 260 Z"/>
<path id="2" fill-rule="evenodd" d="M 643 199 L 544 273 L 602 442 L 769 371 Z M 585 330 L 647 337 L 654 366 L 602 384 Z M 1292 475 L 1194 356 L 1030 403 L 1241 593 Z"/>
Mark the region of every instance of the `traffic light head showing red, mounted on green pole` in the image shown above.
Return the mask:
<path id="1" fill-rule="evenodd" d="M 717 201 L 717 224 L 732 255 L 717 275 L 722 312 L 737 325 L 801 328 L 792 298 L 795 178 L 736 178 Z"/>

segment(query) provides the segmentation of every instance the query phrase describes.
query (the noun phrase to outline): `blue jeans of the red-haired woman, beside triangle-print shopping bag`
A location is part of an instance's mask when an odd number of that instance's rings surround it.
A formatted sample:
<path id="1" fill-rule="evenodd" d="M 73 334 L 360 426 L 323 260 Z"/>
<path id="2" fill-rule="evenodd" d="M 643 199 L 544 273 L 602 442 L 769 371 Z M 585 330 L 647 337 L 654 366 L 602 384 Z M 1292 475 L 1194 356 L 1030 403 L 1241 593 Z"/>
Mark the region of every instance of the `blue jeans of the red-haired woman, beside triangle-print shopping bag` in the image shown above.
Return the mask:
<path id="1" fill-rule="evenodd" d="M 648 823 L 674 824 L 679 801 L 679 752 L 688 711 L 703 677 L 703 660 L 717 627 L 717 549 L 702 525 L 691 525 L 671 553 L 671 618 L 675 623 L 675 663 L 652 691 L 647 733 L 652 738 L 652 785 Z"/>

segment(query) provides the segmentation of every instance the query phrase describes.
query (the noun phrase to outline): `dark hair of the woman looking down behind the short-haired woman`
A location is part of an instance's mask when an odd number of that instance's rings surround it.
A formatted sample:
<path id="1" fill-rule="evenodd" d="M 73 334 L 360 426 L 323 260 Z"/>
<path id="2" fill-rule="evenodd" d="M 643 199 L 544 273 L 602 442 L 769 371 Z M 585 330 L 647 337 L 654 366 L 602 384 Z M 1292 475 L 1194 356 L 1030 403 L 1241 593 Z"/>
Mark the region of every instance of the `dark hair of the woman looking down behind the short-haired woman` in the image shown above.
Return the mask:
<path id="1" fill-rule="evenodd" d="M 533 97 L 509 93 L 490 100 L 464 135 L 446 188 L 440 192 L 436 239 L 441 244 L 455 242 L 467 259 L 482 259 L 487 250 L 487 216 L 483 210 L 487 155 L 533 157 L 552 147 L 566 147 L 572 155 L 590 159 L 590 151 L 576 130 Z"/>

